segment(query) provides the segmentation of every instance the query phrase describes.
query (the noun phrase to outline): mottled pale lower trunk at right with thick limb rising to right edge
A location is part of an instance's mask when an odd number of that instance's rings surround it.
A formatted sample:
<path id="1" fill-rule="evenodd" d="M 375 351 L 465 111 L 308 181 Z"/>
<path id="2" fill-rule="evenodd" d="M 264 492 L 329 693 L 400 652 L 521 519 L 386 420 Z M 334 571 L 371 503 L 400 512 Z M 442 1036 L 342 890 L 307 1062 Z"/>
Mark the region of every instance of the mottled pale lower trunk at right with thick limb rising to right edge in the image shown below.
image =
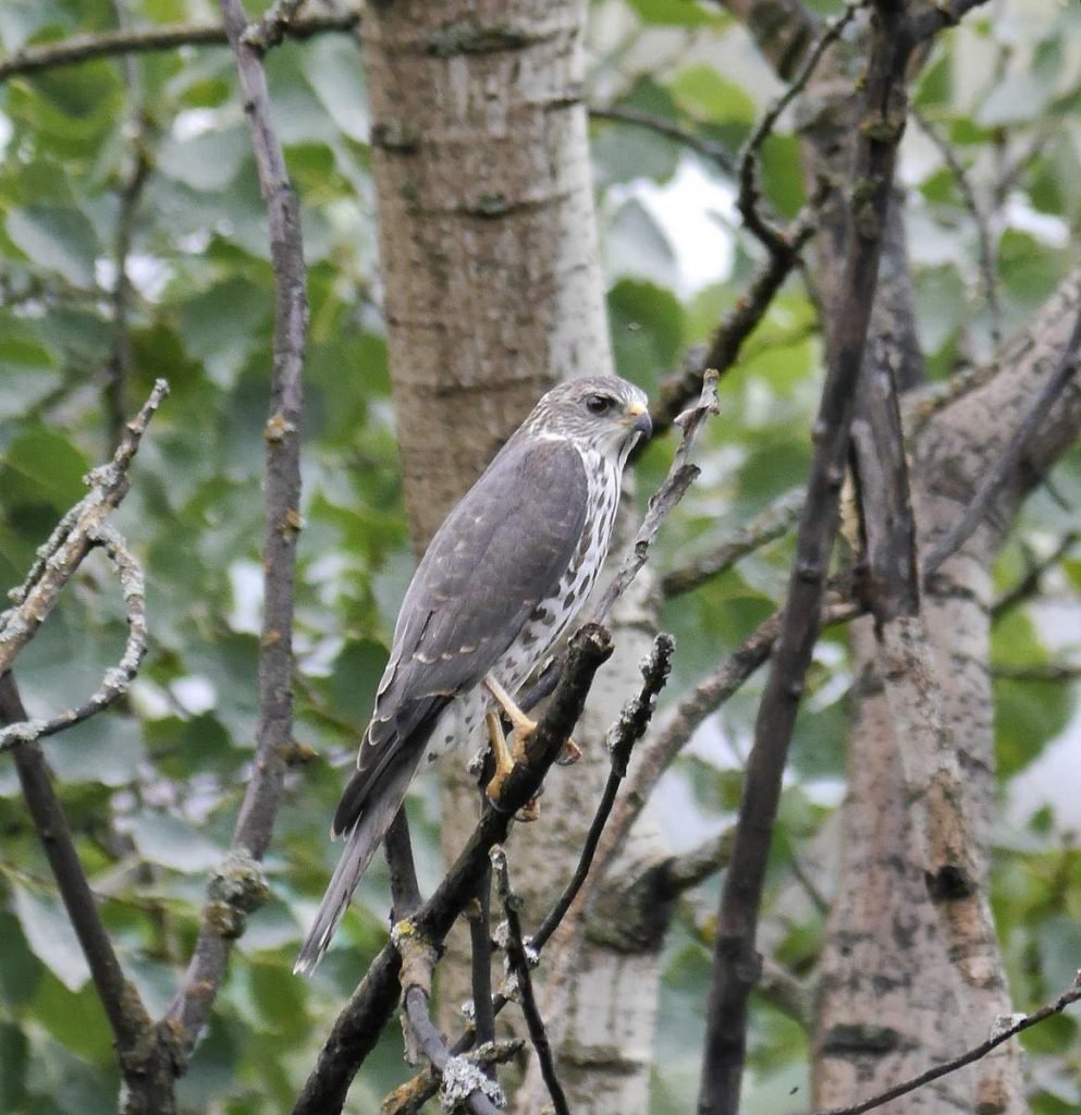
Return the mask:
<path id="1" fill-rule="evenodd" d="M 1002 454 L 1015 419 L 1053 370 L 1079 303 L 1075 274 L 1006 347 L 995 374 L 935 415 L 916 439 L 912 484 L 923 550 L 956 521 Z M 854 628 L 850 785 L 822 959 L 816 1104 L 849 1103 L 955 1056 L 1012 1010 L 987 906 L 990 568 L 1022 498 L 1079 425 L 1081 392 L 1073 387 L 995 513 L 927 586 L 921 630 L 903 631 L 894 620 L 876 639 L 870 620 Z M 914 661 L 921 658 L 924 670 Z M 917 692 L 921 675 L 931 691 Z M 1028 1109 L 1015 1043 L 883 1108 L 951 1109 Z"/>

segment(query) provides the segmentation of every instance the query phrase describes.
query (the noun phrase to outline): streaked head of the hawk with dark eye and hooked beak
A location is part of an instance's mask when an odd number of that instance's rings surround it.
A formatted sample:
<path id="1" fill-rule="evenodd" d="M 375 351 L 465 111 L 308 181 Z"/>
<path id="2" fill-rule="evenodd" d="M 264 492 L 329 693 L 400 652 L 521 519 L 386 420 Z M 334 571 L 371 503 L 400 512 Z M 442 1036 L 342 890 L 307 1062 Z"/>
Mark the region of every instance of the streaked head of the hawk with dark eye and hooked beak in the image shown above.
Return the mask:
<path id="1" fill-rule="evenodd" d="M 585 376 L 553 387 L 533 408 L 524 430 L 574 442 L 622 465 L 653 433 L 645 392 L 616 376 Z"/>

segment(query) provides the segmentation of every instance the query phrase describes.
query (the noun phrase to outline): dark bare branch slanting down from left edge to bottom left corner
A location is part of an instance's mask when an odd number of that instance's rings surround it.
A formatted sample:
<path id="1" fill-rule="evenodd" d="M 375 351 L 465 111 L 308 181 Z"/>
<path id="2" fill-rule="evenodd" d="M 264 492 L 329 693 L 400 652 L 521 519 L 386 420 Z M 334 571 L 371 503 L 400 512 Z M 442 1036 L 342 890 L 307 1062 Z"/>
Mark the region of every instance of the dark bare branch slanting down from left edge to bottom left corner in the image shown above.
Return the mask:
<path id="1" fill-rule="evenodd" d="M 0 724 L 26 720 L 27 710 L 14 677 L 10 672 L 0 673 Z M 79 862 L 41 748 L 37 743 L 19 747 L 14 763 L 27 808 L 113 1030 L 120 1072 L 129 1093 L 123 1111 L 130 1115 L 150 1115 L 152 1112 L 168 1115 L 175 1109 L 175 1050 L 167 1040 L 155 1040 L 150 1016 L 135 985 L 125 978 Z"/>

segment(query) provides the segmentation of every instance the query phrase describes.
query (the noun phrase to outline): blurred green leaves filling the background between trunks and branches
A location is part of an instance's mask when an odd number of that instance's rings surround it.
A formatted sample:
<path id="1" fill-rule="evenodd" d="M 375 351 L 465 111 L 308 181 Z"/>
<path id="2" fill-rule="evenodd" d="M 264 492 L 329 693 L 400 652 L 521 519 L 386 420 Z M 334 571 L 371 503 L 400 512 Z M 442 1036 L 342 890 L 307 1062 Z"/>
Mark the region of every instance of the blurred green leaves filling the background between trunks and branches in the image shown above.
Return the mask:
<path id="1" fill-rule="evenodd" d="M 138 25 L 206 14 L 195 0 L 126 7 Z M 686 0 L 613 0 L 596 4 L 595 16 L 590 97 L 684 129 L 734 159 L 779 88 L 734 17 Z M 115 18 L 107 0 L 3 2 L 0 47 L 8 57 L 111 28 Z M 982 214 L 994 209 L 991 268 L 1005 331 L 1029 319 L 1073 262 L 1081 146 L 1075 114 L 1067 110 L 1079 97 L 1078 21 L 1077 6 L 1061 4 L 1039 16 L 1026 9 L 994 35 L 966 25 L 936 42 L 918 78 L 921 113 L 951 145 Z M 210 1030 L 179 1083 L 185 1109 L 211 1115 L 289 1108 L 337 1008 L 386 938 L 386 874 L 377 866 L 347 918 L 348 947 L 332 951 L 311 982 L 292 976 L 300 927 L 337 855 L 327 821 L 411 568 L 376 309 L 370 109 L 356 43 L 347 36 L 286 43 L 267 65 L 309 264 L 295 738 L 313 757 L 288 776 L 266 863 L 272 901 L 251 918 Z M 129 75 L 116 59 L 101 59 L 0 87 L 0 583 L 21 581 L 35 550 L 85 491 L 81 477 L 107 458 L 111 432 L 154 378 L 166 376 L 172 394 L 117 516 L 147 571 L 149 655 L 119 708 L 47 745 L 106 925 L 160 1014 L 189 957 L 206 874 L 227 845 L 252 758 L 273 289 L 230 54 L 145 54 L 130 67 Z M 785 217 L 807 196 L 801 123 L 787 114 L 762 152 L 765 200 Z M 718 261 L 707 283 L 688 289 L 685 249 L 642 184 L 673 187 L 693 165 L 709 194 L 695 204 L 724 213 L 731 182 L 715 161 L 689 154 L 671 134 L 598 119 L 591 136 L 616 361 L 653 394 L 744 295 L 761 250 L 734 231 L 731 266 Z M 931 372 L 945 378 L 991 351 L 994 322 L 980 282 L 976 222 L 955 168 L 918 129 L 906 143 L 917 319 Z M 995 167 L 1011 159 L 1009 195 L 995 197 Z M 148 173 L 128 210 L 124 195 L 139 161 Z M 108 384 L 123 349 L 115 321 L 123 227 L 130 234 L 132 367 L 117 407 Z M 821 350 L 818 310 L 796 277 L 725 372 L 722 415 L 702 438 L 701 482 L 658 543 L 661 570 L 709 552 L 804 482 Z M 672 452 L 668 440 L 643 455 L 643 500 Z M 997 591 L 1077 529 L 1079 504 L 1074 452 L 1058 469 L 1054 492 L 1030 502 L 995 570 Z M 778 540 L 665 603 L 664 624 L 679 638 L 665 700 L 713 670 L 776 609 L 791 556 L 791 539 Z M 1075 618 L 1077 549 L 1052 588 Z M 78 704 L 116 662 L 125 636 L 117 595 L 99 559 L 74 580 L 19 660 L 32 714 Z M 1022 603 L 995 623 L 993 660 L 1031 666 L 1077 650 L 1075 637 L 1050 647 L 1048 632 L 1046 618 Z M 844 637 L 828 636 L 808 679 L 771 864 L 769 948 L 798 975 L 812 969 L 824 931 L 801 850 L 827 825 L 843 789 L 848 672 Z M 678 821 L 691 828 L 712 832 L 733 815 L 759 685 L 707 723 L 671 776 L 689 788 L 695 815 Z M 1077 686 L 1002 679 L 994 701 L 1009 802 L 1015 779 L 1039 768 L 1071 720 L 1075 730 Z M 430 803 L 415 805 L 418 856 L 430 863 L 438 855 Z M 1012 816 L 1014 830 L 995 850 L 993 902 L 1020 1006 L 1060 988 L 1081 953 L 1081 860 L 1065 832 L 1079 820 L 1058 808 Z M 4 756 L 0 832 L 0 1109 L 115 1111 L 108 1028 Z M 665 944 L 656 1115 L 693 1108 L 715 885 L 681 903 Z M 768 997 L 757 1008 L 748 1109 L 807 1106 L 806 1027 Z M 1081 1104 L 1077 1036 L 1069 1018 L 1030 1031 L 1034 1109 L 1051 1115 Z M 389 1032 L 352 1108 L 376 1109 L 405 1073 L 400 1040 Z"/>

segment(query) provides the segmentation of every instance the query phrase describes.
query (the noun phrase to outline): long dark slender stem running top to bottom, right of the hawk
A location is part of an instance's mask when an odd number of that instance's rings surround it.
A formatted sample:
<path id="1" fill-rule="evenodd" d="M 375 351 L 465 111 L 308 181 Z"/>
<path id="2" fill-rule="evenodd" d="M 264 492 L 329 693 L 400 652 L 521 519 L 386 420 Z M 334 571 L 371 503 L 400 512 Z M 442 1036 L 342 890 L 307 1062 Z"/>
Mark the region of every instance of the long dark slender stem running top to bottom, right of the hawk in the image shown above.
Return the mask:
<path id="1" fill-rule="evenodd" d="M 876 7 L 854 172 L 853 235 L 832 310 L 831 359 L 814 429 L 815 459 L 718 915 L 701 1115 L 732 1115 L 739 1106 L 748 998 L 759 967 L 756 935 L 766 865 L 788 744 L 819 630 L 894 164 L 905 125 L 904 81 L 914 41 L 904 13 L 904 8 L 886 2 Z"/>

